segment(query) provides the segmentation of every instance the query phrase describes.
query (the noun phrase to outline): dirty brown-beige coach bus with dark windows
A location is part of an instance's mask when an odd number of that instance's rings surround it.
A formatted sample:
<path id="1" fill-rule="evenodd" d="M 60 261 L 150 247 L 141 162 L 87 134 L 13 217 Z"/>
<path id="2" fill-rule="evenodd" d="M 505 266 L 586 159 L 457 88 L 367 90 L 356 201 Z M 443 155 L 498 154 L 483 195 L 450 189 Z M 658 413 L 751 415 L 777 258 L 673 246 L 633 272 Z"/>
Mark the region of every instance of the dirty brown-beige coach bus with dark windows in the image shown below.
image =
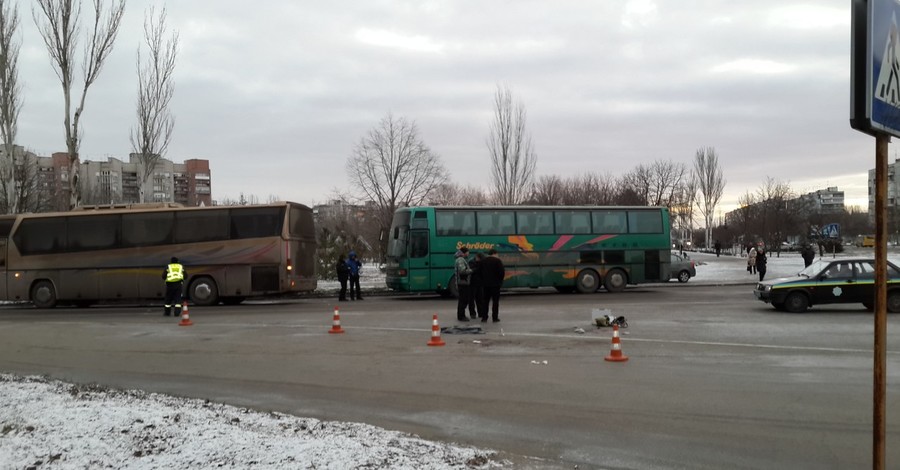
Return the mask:
<path id="1" fill-rule="evenodd" d="M 102 206 L 0 217 L 0 299 L 88 306 L 162 299 L 164 267 L 185 266 L 191 305 L 316 288 L 310 208 Z"/>

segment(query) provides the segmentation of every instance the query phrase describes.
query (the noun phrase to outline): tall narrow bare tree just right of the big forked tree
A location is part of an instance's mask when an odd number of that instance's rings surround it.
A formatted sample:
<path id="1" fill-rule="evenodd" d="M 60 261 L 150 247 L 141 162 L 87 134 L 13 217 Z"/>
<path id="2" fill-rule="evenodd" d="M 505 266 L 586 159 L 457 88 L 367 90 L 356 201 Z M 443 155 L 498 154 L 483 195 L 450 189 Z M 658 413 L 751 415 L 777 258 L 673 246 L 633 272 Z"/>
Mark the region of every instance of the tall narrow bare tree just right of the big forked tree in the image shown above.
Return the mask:
<path id="1" fill-rule="evenodd" d="M 149 202 L 144 188 L 156 163 L 165 157 L 175 129 L 169 103 L 175 94 L 172 73 L 178 55 L 178 32 L 173 32 L 168 40 L 164 40 L 165 35 L 166 9 L 157 17 L 151 6 L 144 17 L 147 57 L 141 57 L 140 47 L 137 51 L 137 125 L 131 131 L 131 148 L 141 163 L 141 202 Z"/>

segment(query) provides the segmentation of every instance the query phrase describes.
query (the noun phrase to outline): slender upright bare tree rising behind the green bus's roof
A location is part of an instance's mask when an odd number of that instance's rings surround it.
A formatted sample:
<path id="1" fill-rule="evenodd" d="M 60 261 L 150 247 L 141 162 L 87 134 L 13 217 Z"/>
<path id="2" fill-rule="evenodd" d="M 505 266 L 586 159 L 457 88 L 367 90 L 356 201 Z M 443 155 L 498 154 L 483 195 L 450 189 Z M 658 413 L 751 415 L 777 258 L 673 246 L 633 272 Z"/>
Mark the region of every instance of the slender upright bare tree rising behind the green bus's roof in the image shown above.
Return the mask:
<path id="1" fill-rule="evenodd" d="M 491 181 L 497 204 L 521 203 L 534 179 L 537 154 L 525 129 L 525 106 L 513 103 L 508 87 L 498 85 L 494 94 L 494 118 L 487 140 L 491 154 Z"/>

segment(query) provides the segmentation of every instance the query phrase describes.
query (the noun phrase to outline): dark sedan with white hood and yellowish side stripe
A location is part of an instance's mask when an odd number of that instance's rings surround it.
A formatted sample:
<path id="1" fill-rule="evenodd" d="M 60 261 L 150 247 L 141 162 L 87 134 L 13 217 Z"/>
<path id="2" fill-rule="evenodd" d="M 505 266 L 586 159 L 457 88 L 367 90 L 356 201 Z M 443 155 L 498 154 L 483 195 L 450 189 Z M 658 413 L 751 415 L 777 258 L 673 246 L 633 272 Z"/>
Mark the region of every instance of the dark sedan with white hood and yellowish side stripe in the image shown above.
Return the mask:
<path id="1" fill-rule="evenodd" d="M 887 310 L 900 312 L 900 269 L 888 262 Z M 813 305 L 861 303 L 875 308 L 874 259 L 817 259 L 796 277 L 762 281 L 753 294 L 777 310 L 804 312 Z"/>

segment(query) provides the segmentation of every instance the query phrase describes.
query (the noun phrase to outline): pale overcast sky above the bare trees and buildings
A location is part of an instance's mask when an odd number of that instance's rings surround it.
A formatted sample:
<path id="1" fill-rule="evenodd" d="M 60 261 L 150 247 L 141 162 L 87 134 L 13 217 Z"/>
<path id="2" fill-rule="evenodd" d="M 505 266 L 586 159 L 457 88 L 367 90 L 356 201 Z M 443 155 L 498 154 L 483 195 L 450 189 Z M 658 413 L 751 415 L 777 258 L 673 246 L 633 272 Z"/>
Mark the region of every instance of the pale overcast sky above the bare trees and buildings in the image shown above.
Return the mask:
<path id="1" fill-rule="evenodd" d="M 86 2 L 90 4 L 90 2 Z M 251 3 L 253 6 L 251 6 Z M 131 0 L 90 89 L 83 159 L 127 159 Z M 170 1 L 181 36 L 167 157 L 210 160 L 213 198 L 306 204 L 348 191 L 346 161 L 388 112 L 414 120 L 454 182 L 490 184 L 493 94 L 528 111 L 539 175 L 619 176 L 715 147 L 723 205 L 767 177 L 865 204 L 874 139 L 850 129 L 850 2 L 816 0 Z M 88 8 L 89 10 L 89 8 Z M 86 18 L 90 18 L 85 11 Z M 19 143 L 64 145 L 62 91 L 20 0 Z M 895 150 L 890 150 L 890 161 Z"/>

